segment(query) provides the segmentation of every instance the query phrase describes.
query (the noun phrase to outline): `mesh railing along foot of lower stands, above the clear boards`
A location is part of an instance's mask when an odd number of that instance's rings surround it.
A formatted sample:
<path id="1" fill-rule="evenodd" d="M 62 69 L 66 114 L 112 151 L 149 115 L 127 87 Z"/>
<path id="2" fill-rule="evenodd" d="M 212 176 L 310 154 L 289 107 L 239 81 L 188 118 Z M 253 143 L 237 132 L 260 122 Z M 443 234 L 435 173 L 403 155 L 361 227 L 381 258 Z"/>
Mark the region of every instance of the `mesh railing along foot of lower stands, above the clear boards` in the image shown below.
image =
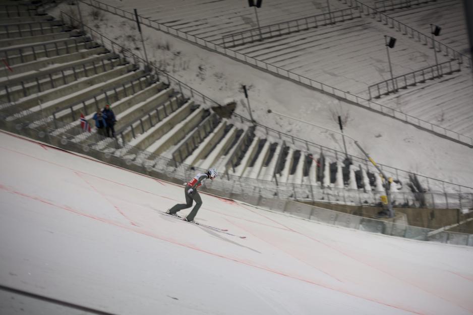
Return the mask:
<path id="1" fill-rule="evenodd" d="M 56 128 L 50 123 L 37 123 L 38 120 L 46 120 L 40 113 L 31 113 L 17 122 L 4 119 L 5 114 L 0 109 L 0 127 L 2 129 L 37 139 L 54 146 L 87 154 L 105 162 L 123 166 L 128 169 L 149 173 L 156 171 L 160 178 L 170 176 L 175 179 L 185 180 L 195 171 L 205 171 L 198 167 L 183 163 L 176 163 L 172 158 L 166 158 L 141 150 L 130 145 L 120 145 L 115 141 L 108 142 L 105 146 L 101 141 L 103 137 L 93 133 L 83 141 L 77 142 L 72 139 L 81 133 L 78 123 L 73 129 L 65 133 L 56 134 Z M 59 125 L 58 128 L 66 124 Z M 70 127 L 68 125 L 68 127 Z M 125 149 L 126 155 L 114 154 Z M 363 189 L 347 189 L 320 184 L 296 184 L 262 180 L 256 178 L 236 176 L 220 172 L 221 180 L 218 187 L 212 187 L 220 192 L 222 196 L 231 194 L 260 196 L 261 198 L 274 198 L 282 200 L 321 201 L 329 203 L 342 203 L 351 205 L 380 206 L 379 199 L 384 192 L 365 191 Z M 192 176 L 191 176 L 192 177 Z M 182 182 L 182 181 L 181 181 Z M 434 208 L 434 209 L 464 209 L 473 208 L 473 194 L 471 193 L 406 193 L 393 192 L 392 201 L 397 207 L 407 208 Z"/>

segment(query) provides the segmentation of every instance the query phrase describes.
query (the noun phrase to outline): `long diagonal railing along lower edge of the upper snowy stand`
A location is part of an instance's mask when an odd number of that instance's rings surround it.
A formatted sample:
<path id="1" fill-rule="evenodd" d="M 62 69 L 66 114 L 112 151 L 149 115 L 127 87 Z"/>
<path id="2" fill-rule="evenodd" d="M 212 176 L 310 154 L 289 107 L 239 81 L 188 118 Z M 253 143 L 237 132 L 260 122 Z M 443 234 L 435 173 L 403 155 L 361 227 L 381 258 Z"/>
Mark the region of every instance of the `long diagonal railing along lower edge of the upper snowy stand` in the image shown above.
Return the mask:
<path id="1" fill-rule="evenodd" d="M 344 1 L 347 1 L 347 0 L 344 0 Z M 131 21 L 135 21 L 135 15 L 131 12 L 127 12 L 125 10 L 103 4 L 103 3 L 98 2 L 96 0 L 86 0 L 86 1 L 83 1 L 83 3 L 87 4 L 87 5 L 90 5 L 92 7 L 107 11 L 109 13 L 122 16 L 122 17 L 124 17 L 126 19 L 129 19 Z M 363 8 L 364 7 L 362 7 L 362 9 Z M 367 8 L 369 8 L 369 7 L 367 7 Z M 371 13 L 368 13 L 368 14 L 376 14 L 376 12 L 377 12 L 374 9 L 370 9 L 370 10 L 371 10 L 370 11 Z M 364 11 L 362 11 L 362 13 L 363 12 Z M 153 28 L 153 29 L 156 29 L 156 30 L 159 30 L 159 31 L 163 31 L 163 32 L 169 33 L 171 35 L 175 35 L 177 37 L 180 37 L 182 39 L 186 39 L 186 40 L 188 40 L 192 43 L 195 43 L 197 45 L 206 47 L 208 49 L 213 49 L 214 51 L 219 52 L 219 53 L 221 53 L 223 55 L 226 55 L 228 57 L 234 58 L 234 59 L 242 61 L 242 62 L 246 62 L 247 64 L 249 64 L 251 66 L 255 66 L 257 68 L 264 69 L 264 70 L 266 70 L 270 73 L 273 73 L 275 75 L 287 78 L 291 81 L 298 82 L 298 83 L 300 83 L 302 85 L 305 85 L 307 87 L 320 90 L 320 91 L 322 91 L 326 94 L 335 96 L 337 98 L 344 99 L 347 102 L 357 104 L 361 107 L 364 107 L 364 108 L 370 109 L 372 111 L 382 113 L 383 115 L 390 116 L 392 118 L 401 120 L 405 123 L 414 125 L 414 126 L 420 128 L 422 130 L 428 131 L 428 132 L 430 132 L 432 134 L 435 134 L 437 136 L 440 136 L 442 138 L 454 141 L 456 143 L 466 145 L 470 148 L 473 147 L 473 138 L 462 135 L 462 134 L 457 133 L 455 131 L 443 128 L 439 125 L 433 124 L 432 122 L 420 119 L 420 118 L 415 117 L 415 116 L 408 115 L 406 113 L 403 113 L 403 112 L 398 111 L 396 109 L 390 108 L 388 106 L 373 102 L 373 101 L 365 99 L 365 98 L 362 98 L 358 95 L 354 95 L 354 94 L 339 90 L 337 88 L 334 88 L 332 86 L 323 84 L 321 82 L 306 78 L 306 77 L 301 76 L 299 74 L 296 74 L 296 73 L 290 72 L 288 70 L 279 68 L 277 66 L 268 64 L 267 62 L 258 60 L 256 58 L 253 58 L 253 57 L 250 57 L 250 56 L 247 56 L 247 55 L 245 55 L 243 53 L 240 53 L 240 52 L 237 52 L 235 50 L 231 50 L 229 48 L 219 46 L 215 43 L 208 42 L 205 39 L 190 35 L 188 33 L 176 30 L 172 27 L 169 27 L 169 26 L 166 26 L 166 25 L 163 25 L 163 24 L 159 24 L 159 23 L 157 23 L 155 21 L 152 21 L 150 19 L 143 18 L 141 16 L 139 16 L 139 19 L 140 19 L 140 22 L 142 24 L 144 24 L 146 26 L 149 26 L 150 28 Z"/>

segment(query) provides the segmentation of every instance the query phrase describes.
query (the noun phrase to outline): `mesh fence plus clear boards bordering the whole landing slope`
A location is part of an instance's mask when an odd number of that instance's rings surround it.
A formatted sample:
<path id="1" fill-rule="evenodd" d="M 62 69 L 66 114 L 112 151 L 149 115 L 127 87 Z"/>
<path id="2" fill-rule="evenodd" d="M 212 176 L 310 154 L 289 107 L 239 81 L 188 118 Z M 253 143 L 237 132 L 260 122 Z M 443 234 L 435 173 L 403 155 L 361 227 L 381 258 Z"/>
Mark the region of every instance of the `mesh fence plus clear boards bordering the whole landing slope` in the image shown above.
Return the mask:
<path id="1" fill-rule="evenodd" d="M 33 117 L 32 115 L 28 116 Z M 101 136 L 94 134 L 87 140 L 74 141 L 74 135 L 62 134 L 54 136 L 51 124 L 38 124 L 37 121 L 7 121 L 5 115 L 0 111 L 0 128 L 51 144 L 72 152 L 78 152 L 96 158 L 98 160 L 120 166 L 139 173 L 156 178 L 173 181 L 181 184 L 192 177 L 195 172 L 205 171 L 182 163 L 175 163 L 172 159 L 153 155 L 150 152 L 134 147 L 127 148 L 127 155 L 117 154 L 120 146 L 116 147 L 115 141 L 108 142 L 103 146 Z M 39 119 L 39 116 L 36 117 Z M 78 128 L 78 127 L 75 127 Z M 321 187 L 320 185 L 299 185 L 281 183 L 278 186 L 271 181 L 244 178 L 221 172 L 218 182 L 208 183 L 202 187 L 205 192 L 218 196 L 241 200 L 256 206 L 262 206 L 274 211 L 280 211 L 298 217 L 324 222 L 336 226 L 360 229 L 373 233 L 406 237 L 419 240 L 432 240 L 451 244 L 473 245 L 473 235 L 463 233 L 446 232 L 444 230 L 433 230 L 422 227 L 398 224 L 389 221 L 376 220 L 351 214 L 340 213 L 323 208 L 313 207 L 306 204 L 294 203 L 294 201 L 323 201 L 346 204 L 376 205 L 376 200 L 383 192 L 362 192 L 362 190 L 346 190 L 334 187 Z M 445 200 L 447 207 L 473 206 L 472 194 L 393 194 L 396 202 L 411 202 L 411 206 L 424 200 L 426 203 L 432 200 L 437 205 Z M 445 205 L 443 204 L 443 205 Z"/>

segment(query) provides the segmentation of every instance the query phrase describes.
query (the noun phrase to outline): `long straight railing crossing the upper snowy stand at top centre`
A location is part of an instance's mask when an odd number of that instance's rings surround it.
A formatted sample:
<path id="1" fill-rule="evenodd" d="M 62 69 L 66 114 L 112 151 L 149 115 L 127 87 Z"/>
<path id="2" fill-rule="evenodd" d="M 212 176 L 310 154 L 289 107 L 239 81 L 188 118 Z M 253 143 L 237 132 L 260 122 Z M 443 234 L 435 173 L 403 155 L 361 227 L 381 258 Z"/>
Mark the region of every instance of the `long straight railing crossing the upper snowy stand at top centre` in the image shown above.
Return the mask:
<path id="1" fill-rule="evenodd" d="M 308 30 L 310 28 L 352 20 L 354 18 L 361 18 L 361 14 L 357 9 L 348 8 L 331 11 L 330 13 L 327 12 L 306 18 L 266 25 L 261 28 L 253 28 L 246 31 L 223 35 L 222 45 L 224 48 L 236 47 L 262 39 L 287 35 L 294 32 Z"/>

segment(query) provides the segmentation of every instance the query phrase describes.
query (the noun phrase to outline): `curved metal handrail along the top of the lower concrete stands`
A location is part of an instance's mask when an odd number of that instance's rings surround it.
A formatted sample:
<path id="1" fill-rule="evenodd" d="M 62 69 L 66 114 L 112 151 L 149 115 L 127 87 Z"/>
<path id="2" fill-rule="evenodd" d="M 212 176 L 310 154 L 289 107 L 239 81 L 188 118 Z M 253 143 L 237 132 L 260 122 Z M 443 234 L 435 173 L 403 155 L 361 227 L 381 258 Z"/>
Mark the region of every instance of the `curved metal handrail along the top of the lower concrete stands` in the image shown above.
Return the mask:
<path id="1" fill-rule="evenodd" d="M 70 17 L 69 15 L 67 15 L 66 13 L 63 13 L 65 16 L 68 16 Z M 71 17 L 72 18 L 72 17 Z M 75 19 L 74 19 L 75 20 Z M 77 21 L 77 20 L 75 20 Z M 107 40 L 110 42 L 110 44 L 113 44 L 114 42 L 108 38 L 106 38 L 105 36 L 101 35 L 100 33 L 96 32 L 95 30 L 85 26 L 87 29 L 93 31 L 94 33 L 98 34 L 98 36 L 100 36 L 102 38 L 102 45 L 104 45 L 105 43 L 107 43 Z M 93 36 L 92 36 L 93 37 Z M 103 40 L 103 39 L 106 39 L 106 40 Z M 108 44 L 108 43 L 107 43 Z M 133 57 L 133 59 L 135 60 L 135 64 L 137 64 L 137 61 L 141 62 L 143 65 L 146 64 L 146 61 L 140 57 L 140 56 L 137 56 L 136 54 L 134 54 L 132 51 L 128 50 L 127 48 L 124 48 L 122 46 L 120 46 L 119 44 L 117 43 L 114 43 L 114 45 L 116 47 L 120 47 L 122 49 L 122 51 L 125 51 L 127 54 L 129 54 L 129 57 Z M 104 45 L 105 46 L 105 45 Z M 171 82 L 173 82 L 175 85 L 177 85 L 179 87 L 179 90 L 181 92 L 181 94 L 185 94 L 184 91 L 188 91 L 188 94 L 191 95 L 192 98 L 198 100 L 198 99 L 202 99 L 202 102 L 204 104 L 207 104 L 207 103 L 210 103 L 211 105 L 214 105 L 214 106 L 221 106 L 218 102 L 216 102 L 215 100 L 209 98 L 208 96 L 205 96 L 203 95 L 202 93 L 198 92 L 197 90 L 193 89 L 192 87 L 188 86 L 187 84 L 179 81 L 178 79 L 175 79 L 174 77 L 172 77 L 171 75 L 169 75 L 168 73 L 158 69 L 157 67 L 155 67 L 154 65 L 149 65 L 151 69 L 153 69 L 156 73 L 158 73 L 159 75 L 165 77 L 167 79 L 167 84 L 170 85 Z M 197 98 L 197 96 L 199 98 Z M 252 123 L 253 122 L 251 121 L 251 119 L 245 117 L 245 116 L 242 116 L 240 114 L 237 114 L 235 112 L 233 112 L 233 115 L 239 117 L 241 119 L 241 121 L 247 121 L 249 123 Z M 288 134 L 285 134 L 285 133 L 282 133 L 280 131 L 277 131 L 277 130 L 274 130 L 274 129 L 271 129 L 265 125 L 262 125 L 260 123 L 257 123 L 256 122 L 256 125 L 261 127 L 262 130 L 266 130 L 267 133 L 269 132 L 272 132 L 274 134 L 275 137 L 277 138 L 282 138 L 282 137 L 286 137 L 287 139 L 291 140 L 291 142 L 293 144 L 295 144 L 295 142 L 299 142 L 301 145 L 304 145 L 306 147 L 308 147 L 308 145 L 312 145 L 314 147 L 318 147 L 320 148 L 321 150 L 327 150 L 327 151 L 330 151 L 330 152 L 333 152 L 335 153 L 335 155 L 338 155 L 340 154 L 340 156 L 344 156 L 344 152 L 342 151 L 338 151 L 336 149 L 332 149 L 332 148 L 328 148 L 328 147 L 325 147 L 325 146 L 322 146 L 322 145 L 319 145 L 319 144 L 316 144 L 316 143 L 313 143 L 313 142 L 310 142 L 310 141 L 307 141 L 307 140 L 304 140 L 304 139 L 301 139 L 301 138 L 298 138 L 298 137 L 294 137 L 294 136 L 291 136 L 291 135 L 288 135 Z M 361 157 L 358 157 L 358 156 L 354 156 L 354 155 L 349 155 L 353 160 L 358 160 L 358 161 L 363 161 L 363 163 L 370 163 L 368 160 L 364 159 L 364 158 L 361 158 Z M 461 187 L 463 188 L 466 188 L 467 190 L 471 190 L 473 191 L 473 187 L 469 187 L 469 186 L 465 186 L 465 185 L 460 185 L 460 184 L 456 184 L 456 183 L 452 183 L 452 182 L 448 182 L 448 181 L 445 181 L 445 180 L 441 180 L 441 179 L 436 179 L 436 178 L 433 178 L 433 177 L 429 177 L 429 176 L 424 176 L 424 175 L 421 175 L 421 174 L 418 174 L 418 173 L 415 173 L 415 172 L 409 172 L 409 171 L 405 171 L 405 170 L 401 170 L 401 169 L 398 169 L 398 168 L 395 168 L 395 167 L 390 167 L 390 166 L 386 166 L 384 164 L 379 164 L 385 171 L 386 169 L 390 172 L 392 172 L 393 174 L 397 174 L 399 172 L 402 172 L 402 173 L 405 173 L 406 175 L 408 174 L 415 174 L 417 176 L 420 176 L 420 177 L 423 177 L 427 180 L 427 185 L 429 185 L 429 180 L 431 181 L 434 181 L 434 182 L 439 182 L 439 183 L 442 183 L 442 185 L 444 186 L 445 184 L 447 185 L 453 185 L 453 186 L 456 186 L 456 187 L 459 187 L 460 190 L 461 190 Z M 399 176 L 396 176 L 397 178 Z M 407 176 L 406 176 L 407 177 Z"/>

